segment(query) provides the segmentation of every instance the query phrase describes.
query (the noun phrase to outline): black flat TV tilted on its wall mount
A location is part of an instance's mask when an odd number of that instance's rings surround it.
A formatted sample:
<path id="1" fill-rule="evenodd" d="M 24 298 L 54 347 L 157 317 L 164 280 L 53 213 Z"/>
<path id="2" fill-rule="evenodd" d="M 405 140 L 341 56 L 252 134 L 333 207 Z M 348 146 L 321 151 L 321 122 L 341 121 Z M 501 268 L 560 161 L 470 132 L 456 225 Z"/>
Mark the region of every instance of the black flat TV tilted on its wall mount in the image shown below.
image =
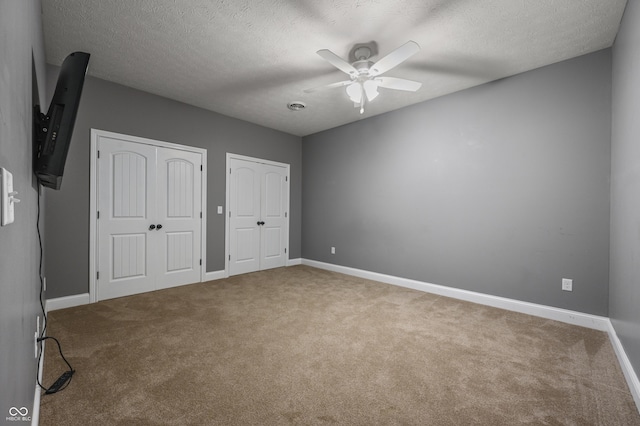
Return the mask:
<path id="1" fill-rule="evenodd" d="M 40 184 L 48 188 L 60 189 L 62 184 L 89 56 L 85 52 L 74 52 L 67 56 L 60 67 L 47 114 L 35 111 L 34 173 Z"/>

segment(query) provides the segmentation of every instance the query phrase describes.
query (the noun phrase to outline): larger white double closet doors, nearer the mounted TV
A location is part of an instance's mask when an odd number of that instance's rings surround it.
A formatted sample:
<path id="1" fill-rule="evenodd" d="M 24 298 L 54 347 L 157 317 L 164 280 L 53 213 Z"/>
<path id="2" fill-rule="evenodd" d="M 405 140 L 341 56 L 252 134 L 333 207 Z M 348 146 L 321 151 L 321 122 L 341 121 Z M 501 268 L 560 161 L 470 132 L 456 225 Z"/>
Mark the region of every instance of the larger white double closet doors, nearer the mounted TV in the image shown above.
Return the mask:
<path id="1" fill-rule="evenodd" d="M 200 281 L 203 155 L 101 136 L 97 300 Z"/>

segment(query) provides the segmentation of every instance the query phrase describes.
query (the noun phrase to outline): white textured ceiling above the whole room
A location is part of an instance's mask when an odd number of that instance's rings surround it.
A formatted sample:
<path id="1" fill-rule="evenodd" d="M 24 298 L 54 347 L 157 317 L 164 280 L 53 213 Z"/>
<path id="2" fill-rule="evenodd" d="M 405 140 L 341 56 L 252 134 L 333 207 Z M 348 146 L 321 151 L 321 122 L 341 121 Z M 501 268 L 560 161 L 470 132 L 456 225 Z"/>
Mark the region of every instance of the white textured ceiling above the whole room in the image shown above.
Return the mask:
<path id="1" fill-rule="evenodd" d="M 626 0 L 43 0 L 47 62 L 91 53 L 89 75 L 304 136 L 613 44 Z M 375 42 L 385 73 L 422 82 L 380 89 L 364 115 L 315 52 Z M 304 111 L 287 103 L 302 101 Z"/>

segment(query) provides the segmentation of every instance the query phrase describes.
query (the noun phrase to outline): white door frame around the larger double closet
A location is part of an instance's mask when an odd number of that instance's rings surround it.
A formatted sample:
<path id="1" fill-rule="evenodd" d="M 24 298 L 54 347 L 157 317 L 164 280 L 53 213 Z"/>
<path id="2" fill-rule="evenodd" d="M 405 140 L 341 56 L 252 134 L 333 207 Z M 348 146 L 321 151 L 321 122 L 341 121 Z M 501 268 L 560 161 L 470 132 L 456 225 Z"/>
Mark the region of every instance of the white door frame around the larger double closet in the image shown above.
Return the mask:
<path id="1" fill-rule="evenodd" d="M 202 157 L 201 173 L 201 211 L 200 222 L 200 282 L 205 281 L 207 265 L 207 150 L 193 146 L 179 145 L 171 142 L 163 142 L 155 139 L 141 138 L 125 135 L 123 133 L 108 132 L 106 130 L 91 129 L 91 162 L 90 162 L 90 197 L 89 197 L 89 302 L 97 300 L 97 265 L 98 265 L 98 140 L 101 137 L 123 139 L 127 142 L 152 145 L 160 148 L 177 149 L 180 151 L 194 152 Z"/>

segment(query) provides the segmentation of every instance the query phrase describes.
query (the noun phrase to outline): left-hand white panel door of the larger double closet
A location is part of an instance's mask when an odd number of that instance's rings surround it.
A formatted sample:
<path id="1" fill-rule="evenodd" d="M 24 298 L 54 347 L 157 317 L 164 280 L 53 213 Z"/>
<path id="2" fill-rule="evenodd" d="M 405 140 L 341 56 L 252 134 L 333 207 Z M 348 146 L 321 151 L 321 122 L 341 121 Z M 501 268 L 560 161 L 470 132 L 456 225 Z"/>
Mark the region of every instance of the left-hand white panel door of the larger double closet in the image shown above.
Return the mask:
<path id="1" fill-rule="evenodd" d="M 98 300 L 155 288 L 156 150 L 100 139 Z"/>

